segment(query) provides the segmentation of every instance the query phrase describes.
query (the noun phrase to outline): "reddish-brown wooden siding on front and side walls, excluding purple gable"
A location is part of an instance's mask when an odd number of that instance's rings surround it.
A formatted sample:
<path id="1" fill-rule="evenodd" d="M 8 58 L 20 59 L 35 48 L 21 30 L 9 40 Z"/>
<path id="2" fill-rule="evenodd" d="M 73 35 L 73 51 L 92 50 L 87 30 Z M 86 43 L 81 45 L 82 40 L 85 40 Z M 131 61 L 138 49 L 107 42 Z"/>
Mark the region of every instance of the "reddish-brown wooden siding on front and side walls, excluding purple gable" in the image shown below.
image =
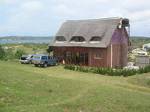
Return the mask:
<path id="1" fill-rule="evenodd" d="M 76 48 L 76 47 L 55 47 L 54 56 L 60 58 L 60 62 L 65 59 L 66 52 L 88 53 L 88 66 L 111 67 L 111 46 L 108 48 Z M 112 67 L 123 67 L 127 64 L 127 46 L 124 44 L 112 45 Z M 100 54 L 96 58 L 96 54 Z"/>

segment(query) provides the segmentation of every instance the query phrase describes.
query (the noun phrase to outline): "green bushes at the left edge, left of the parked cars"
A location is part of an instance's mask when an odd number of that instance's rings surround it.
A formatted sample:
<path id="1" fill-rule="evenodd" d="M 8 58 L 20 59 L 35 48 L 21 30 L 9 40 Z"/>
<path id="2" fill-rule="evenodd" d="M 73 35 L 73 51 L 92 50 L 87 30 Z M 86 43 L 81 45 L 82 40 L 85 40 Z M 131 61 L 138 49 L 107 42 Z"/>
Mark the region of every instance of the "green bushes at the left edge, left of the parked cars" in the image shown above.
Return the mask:
<path id="1" fill-rule="evenodd" d="M 0 60 L 12 60 L 19 59 L 23 54 L 26 54 L 24 50 L 18 49 L 13 51 L 12 49 L 4 49 L 0 45 Z"/>

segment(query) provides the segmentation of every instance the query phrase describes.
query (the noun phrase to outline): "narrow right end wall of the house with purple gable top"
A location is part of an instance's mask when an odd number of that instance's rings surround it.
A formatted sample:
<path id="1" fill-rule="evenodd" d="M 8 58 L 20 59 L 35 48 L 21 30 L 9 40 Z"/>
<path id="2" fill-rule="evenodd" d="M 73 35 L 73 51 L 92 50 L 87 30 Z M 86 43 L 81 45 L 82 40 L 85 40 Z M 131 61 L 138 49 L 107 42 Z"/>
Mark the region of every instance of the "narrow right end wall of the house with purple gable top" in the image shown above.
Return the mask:
<path id="1" fill-rule="evenodd" d="M 116 29 L 111 40 L 112 67 L 124 67 L 128 59 L 128 35 L 125 29 Z M 109 51 L 110 52 L 110 51 Z"/>

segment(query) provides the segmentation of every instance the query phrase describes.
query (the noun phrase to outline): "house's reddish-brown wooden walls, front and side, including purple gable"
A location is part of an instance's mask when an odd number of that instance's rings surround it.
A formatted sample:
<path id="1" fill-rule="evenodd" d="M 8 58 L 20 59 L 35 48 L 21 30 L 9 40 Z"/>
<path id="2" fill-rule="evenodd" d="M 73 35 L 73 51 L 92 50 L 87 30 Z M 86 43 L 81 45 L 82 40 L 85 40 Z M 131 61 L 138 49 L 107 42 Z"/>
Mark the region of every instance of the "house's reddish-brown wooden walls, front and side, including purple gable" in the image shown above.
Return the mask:
<path id="1" fill-rule="evenodd" d="M 54 56 L 59 57 L 60 62 L 62 62 L 66 59 L 64 54 L 68 51 L 74 54 L 78 52 L 88 53 L 87 66 L 124 67 L 127 65 L 128 35 L 126 29 L 116 29 L 107 48 L 54 47 Z M 99 57 L 97 58 L 96 55 Z"/>

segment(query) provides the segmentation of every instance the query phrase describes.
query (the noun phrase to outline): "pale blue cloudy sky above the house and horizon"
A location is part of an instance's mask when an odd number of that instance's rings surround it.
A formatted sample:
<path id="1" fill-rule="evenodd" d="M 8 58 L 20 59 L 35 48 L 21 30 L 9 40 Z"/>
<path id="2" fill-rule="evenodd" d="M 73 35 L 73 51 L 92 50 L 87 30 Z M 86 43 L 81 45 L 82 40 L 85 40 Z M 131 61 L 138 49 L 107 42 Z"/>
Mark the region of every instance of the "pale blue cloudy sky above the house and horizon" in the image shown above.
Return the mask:
<path id="1" fill-rule="evenodd" d="M 150 0 L 0 0 L 0 36 L 53 36 L 66 20 L 124 17 L 150 37 Z"/>

